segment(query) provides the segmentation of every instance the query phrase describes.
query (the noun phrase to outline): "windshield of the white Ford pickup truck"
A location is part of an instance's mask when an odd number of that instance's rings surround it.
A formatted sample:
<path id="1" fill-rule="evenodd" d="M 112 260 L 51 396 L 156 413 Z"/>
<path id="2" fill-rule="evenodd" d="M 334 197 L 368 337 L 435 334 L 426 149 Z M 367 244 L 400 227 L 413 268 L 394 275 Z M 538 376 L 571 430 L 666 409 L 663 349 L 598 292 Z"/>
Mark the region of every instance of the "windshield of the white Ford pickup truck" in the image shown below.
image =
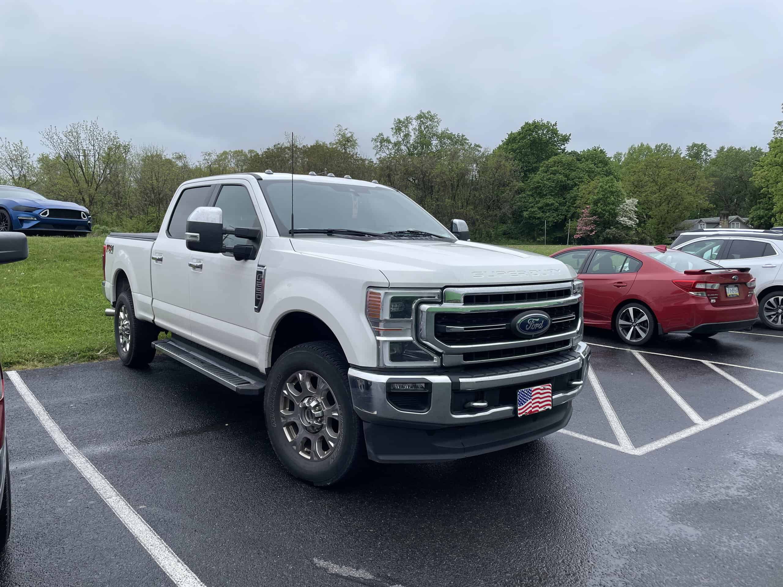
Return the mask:
<path id="1" fill-rule="evenodd" d="M 258 183 L 280 236 L 287 236 L 291 228 L 290 180 L 264 179 Z M 379 234 L 421 231 L 454 239 L 440 222 L 396 189 L 301 179 L 294 180 L 294 229 L 349 229 Z"/>

